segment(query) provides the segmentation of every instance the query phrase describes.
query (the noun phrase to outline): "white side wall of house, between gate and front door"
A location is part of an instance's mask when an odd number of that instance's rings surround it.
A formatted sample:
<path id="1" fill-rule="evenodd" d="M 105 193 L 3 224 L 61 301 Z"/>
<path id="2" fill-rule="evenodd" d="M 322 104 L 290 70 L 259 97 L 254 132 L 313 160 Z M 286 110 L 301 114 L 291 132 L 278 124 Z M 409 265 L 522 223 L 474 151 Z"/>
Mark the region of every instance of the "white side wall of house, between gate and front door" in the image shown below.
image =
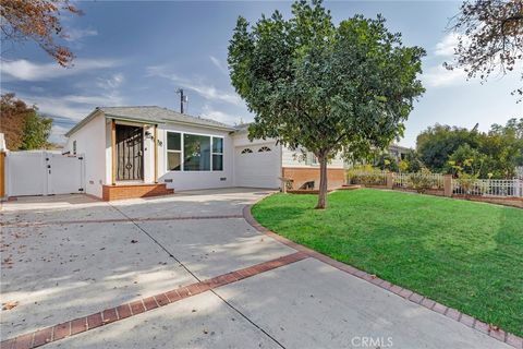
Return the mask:
<path id="1" fill-rule="evenodd" d="M 110 137 L 110 134 L 109 134 Z M 68 140 L 64 151 L 73 154 L 76 141 L 76 154 L 84 155 L 85 192 L 101 197 L 101 185 L 107 182 L 106 173 L 106 119 L 100 112 L 87 124 L 74 132 Z M 110 142 L 109 142 L 110 144 Z M 110 155 L 109 148 L 109 155 Z M 110 164 L 110 163 L 109 163 Z M 109 171 L 110 171 L 109 166 Z M 110 176 L 110 174 L 109 174 Z"/>

